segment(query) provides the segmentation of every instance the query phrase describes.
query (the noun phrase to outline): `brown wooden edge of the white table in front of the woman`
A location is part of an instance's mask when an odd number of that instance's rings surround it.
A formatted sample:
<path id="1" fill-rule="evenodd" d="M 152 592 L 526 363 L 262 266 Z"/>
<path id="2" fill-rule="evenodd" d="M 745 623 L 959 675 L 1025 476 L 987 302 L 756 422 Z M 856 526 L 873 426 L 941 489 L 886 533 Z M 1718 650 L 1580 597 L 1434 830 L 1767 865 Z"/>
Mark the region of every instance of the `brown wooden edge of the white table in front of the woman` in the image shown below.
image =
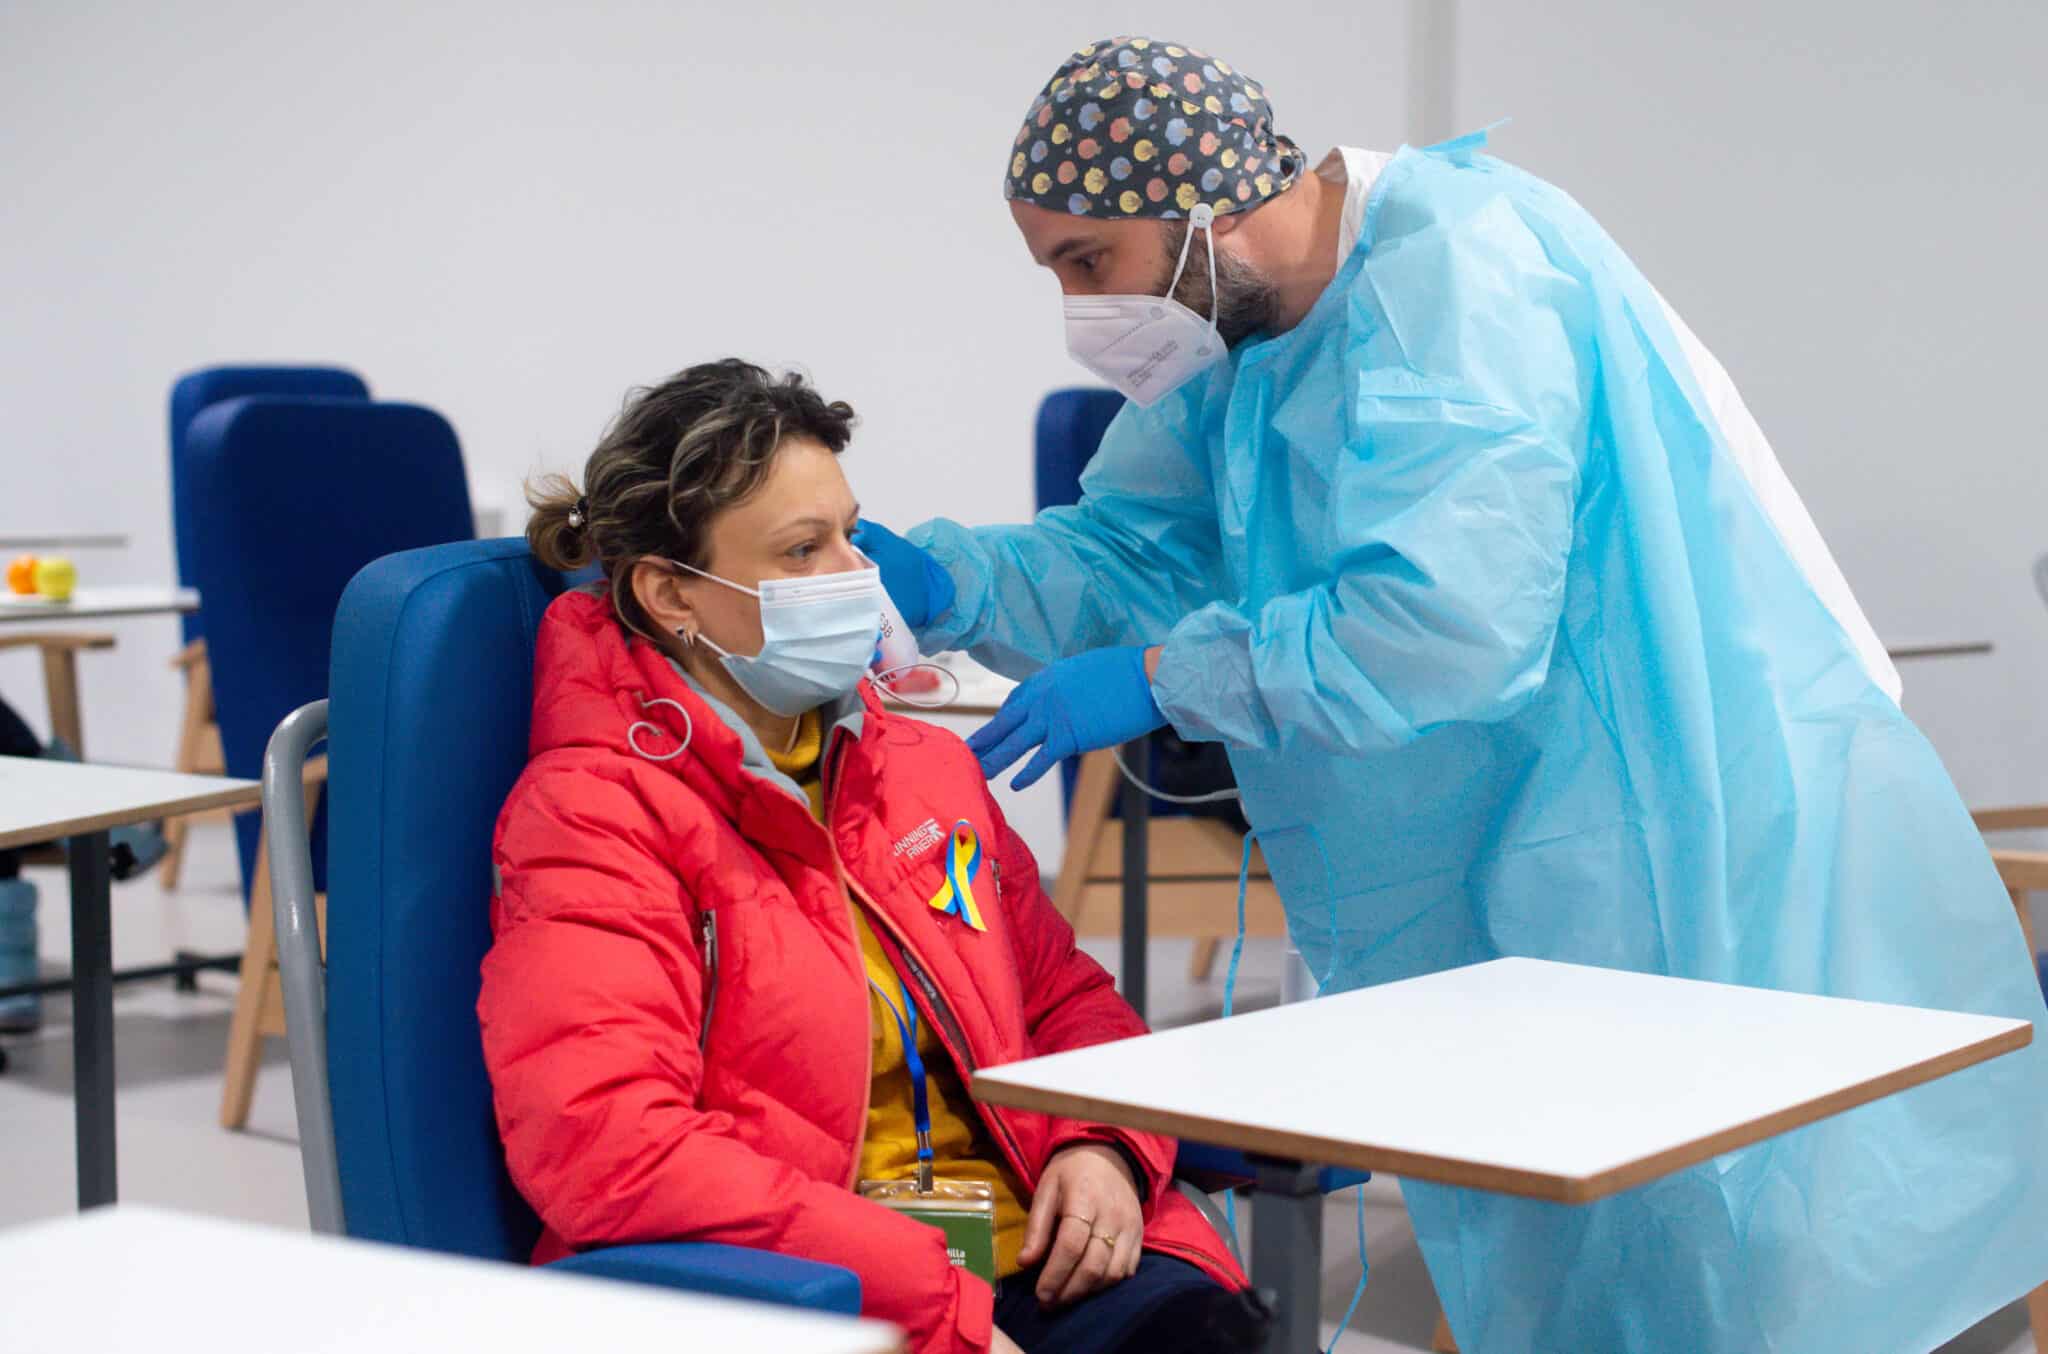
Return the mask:
<path id="1" fill-rule="evenodd" d="M 1178 1110 L 1157 1110 L 1149 1106 L 1096 1100 L 1090 1096 L 1069 1096 L 1036 1086 L 1016 1086 L 1004 1082 L 1001 1067 L 977 1071 L 969 1084 L 969 1094 L 975 1100 L 1014 1110 L 1034 1110 L 1040 1114 L 1059 1114 L 1063 1118 L 1108 1123 L 1124 1129 L 1139 1129 L 1143 1133 L 1165 1133 L 1198 1143 L 1235 1147 L 1237 1151 L 1290 1157 L 1313 1166 L 1341 1166 L 1368 1172 L 1376 1170 L 1391 1176 L 1405 1176 L 1409 1180 L 1456 1184 L 1475 1190 L 1491 1190 L 1495 1194 L 1542 1198 L 1548 1202 L 1585 1204 L 1610 1194 L 1620 1194 L 1622 1190 L 1647 1184 L 1661 1176 L 1669 1176 L 1688 1166 L 1698 1166 L 1700 1161 L 1708 1161 L 1724 1151 L 1747 1147 L 1767 1137 L 1790 1133 L 1792 1129 L 1802 1129 L 1810 1123 L 1870 1104 L 1872 1100 L 1882 1100 L 1884 1096 L 1911 1090 L 1913 1086 L 1923 1086 L 1952 1071 L 1987 1063 L 1993 1057 L 2003 1057 L 2005 1053 L 2023 1049 L 2030 1043 L 2034 1043 L 2034 1024 L 2021 1022 L 2017 1028 L 1987 1034 L 1985 1039 L 1964 1045 L 1962 1049 L 1937 1053 L 1935 1057 L 1909 1067 L 1896 1067 L 1870 1077 L 1868 1082 L 1843 1086 L 1841 1090 L 1829 1092 L 1827 1096 L 1806 1104 L 1796 1104 L 1792 1108 L 1778 1110 L 1776 1114 L 1765 1114 L 1761 1118 L 1722 1129 L 1720 1133 L 1710 1133 L 1708 1137 L 1612 1166 L 1591 1176 L 1552 1176 L 1511 1166 L 1487 1166 L 1483 1161 L 1462 1161 L 1395 1147 L 1372 1147 L 1356 1141 L 1325 1139 L 1313 1133 L 1274 1133 L 1270 1129 L 1229 1125 Z"/>

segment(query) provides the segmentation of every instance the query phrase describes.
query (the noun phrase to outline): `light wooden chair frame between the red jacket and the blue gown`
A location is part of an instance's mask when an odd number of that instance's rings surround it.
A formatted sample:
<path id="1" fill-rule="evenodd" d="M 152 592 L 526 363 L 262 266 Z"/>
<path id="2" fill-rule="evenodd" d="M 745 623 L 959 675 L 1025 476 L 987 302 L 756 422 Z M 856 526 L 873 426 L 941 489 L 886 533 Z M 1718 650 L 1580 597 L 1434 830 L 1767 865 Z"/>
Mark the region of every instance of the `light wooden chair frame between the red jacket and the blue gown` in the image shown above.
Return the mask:
<path id="1" fill-rule="evenodd" d="M 1110 817 L 1118 785 L 1116 758 L 1108 750 L 1081 758 L 1053 905 L 1083 936 L 1122 932 L 1124 826 Z M 1208 977 L 1221 940 L 1237 934 L 1243 834 L 1212 817 L 1157 817 L 1149 830 L 1151 934 L 1194 936 L 1192 975 Z M 1245 889 L 1245 934 L 1286 936 L 1280 893 L 1255 850 Z"/>

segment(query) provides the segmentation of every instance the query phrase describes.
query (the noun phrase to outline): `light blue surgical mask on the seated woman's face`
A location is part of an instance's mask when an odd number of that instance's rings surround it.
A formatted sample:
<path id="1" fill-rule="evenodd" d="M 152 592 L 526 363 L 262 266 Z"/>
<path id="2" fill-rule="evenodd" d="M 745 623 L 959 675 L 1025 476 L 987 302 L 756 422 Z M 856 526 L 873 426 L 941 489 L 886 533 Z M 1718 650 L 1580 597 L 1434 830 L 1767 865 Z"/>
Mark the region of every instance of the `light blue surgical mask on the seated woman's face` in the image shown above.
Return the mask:
<path id="1" fill-rule="evenodd" d="M 860 684 L 874 660 L 883 629 L 883 576 L 879 569 L 764 578 L 760 588 L 672 561 L 698 578 L 760 598 L 762 651 L 733 653 L 698 633 L 739 688 L 776 715 L 803 715 Z M 686 637 L 688 641 L 688 637 Z"/>

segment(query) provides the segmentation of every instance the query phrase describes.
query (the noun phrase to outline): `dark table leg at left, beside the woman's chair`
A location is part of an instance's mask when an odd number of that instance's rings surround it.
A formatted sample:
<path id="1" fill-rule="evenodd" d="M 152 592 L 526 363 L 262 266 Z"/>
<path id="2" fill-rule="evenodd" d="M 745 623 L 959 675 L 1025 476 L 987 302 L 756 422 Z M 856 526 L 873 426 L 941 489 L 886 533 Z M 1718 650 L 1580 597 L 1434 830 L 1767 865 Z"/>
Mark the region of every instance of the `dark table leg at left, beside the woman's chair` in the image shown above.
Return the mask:
<path id="1" fill-rule="evenodd" d="M 66 842 L 72 864 L 72 1096 L 78 1108 L 78 1207 L 115 1202 L 113 877 L 106 834 Z"/>

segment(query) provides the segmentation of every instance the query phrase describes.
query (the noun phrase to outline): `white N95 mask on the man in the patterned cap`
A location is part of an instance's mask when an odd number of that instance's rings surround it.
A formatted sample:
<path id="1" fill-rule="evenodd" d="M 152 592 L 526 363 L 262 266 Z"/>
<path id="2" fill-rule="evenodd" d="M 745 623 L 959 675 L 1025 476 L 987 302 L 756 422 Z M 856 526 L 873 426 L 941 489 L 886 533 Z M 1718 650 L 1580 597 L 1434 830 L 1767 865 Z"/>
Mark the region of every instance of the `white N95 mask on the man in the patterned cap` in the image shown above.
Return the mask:
<path id="1" fill-rule="evenodd" d="M 1202 231 L 1208 246 L 1208 320 L 1174 299 L 1188 270 L 1188 248 Z M 1196 203 L 1180 262 L 1163 297 L 1067 297 L 1067 352 L 1139 408 L 1151 408 L 1225 354 L 1217 332 L 1217 211 Z"/>

